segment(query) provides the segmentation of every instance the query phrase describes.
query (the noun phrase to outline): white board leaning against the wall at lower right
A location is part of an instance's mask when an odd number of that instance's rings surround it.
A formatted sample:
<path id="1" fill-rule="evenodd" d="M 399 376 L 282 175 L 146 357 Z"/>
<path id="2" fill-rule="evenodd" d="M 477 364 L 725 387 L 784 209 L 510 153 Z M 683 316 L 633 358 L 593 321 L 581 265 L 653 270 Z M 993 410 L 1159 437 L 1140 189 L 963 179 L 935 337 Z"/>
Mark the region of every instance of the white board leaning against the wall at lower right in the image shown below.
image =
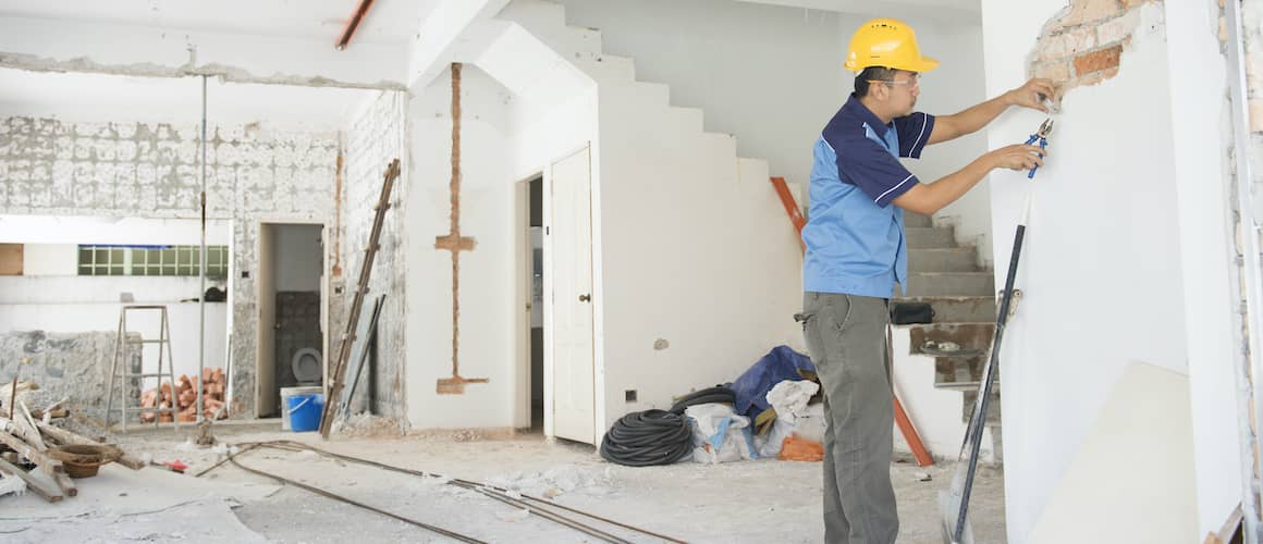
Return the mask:
<path id="1" fill-rule="evenodd" d="M 1128 365 L 1029 541 L 1201 541 L 1192 441 L 1188 377 Z"/>

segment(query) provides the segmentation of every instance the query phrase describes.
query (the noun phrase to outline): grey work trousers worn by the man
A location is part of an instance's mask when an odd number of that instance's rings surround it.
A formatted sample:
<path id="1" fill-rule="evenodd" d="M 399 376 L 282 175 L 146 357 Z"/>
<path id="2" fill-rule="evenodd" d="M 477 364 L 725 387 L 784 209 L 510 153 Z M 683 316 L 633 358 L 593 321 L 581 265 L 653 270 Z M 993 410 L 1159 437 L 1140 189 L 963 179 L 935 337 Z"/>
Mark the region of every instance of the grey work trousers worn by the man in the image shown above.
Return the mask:
<path id="1" fill-rule="evenodd" d="M 825 541 L 892 544 L 893 389 L 887 299 L 806 293 L 803 333 L 825 393 Z"/>

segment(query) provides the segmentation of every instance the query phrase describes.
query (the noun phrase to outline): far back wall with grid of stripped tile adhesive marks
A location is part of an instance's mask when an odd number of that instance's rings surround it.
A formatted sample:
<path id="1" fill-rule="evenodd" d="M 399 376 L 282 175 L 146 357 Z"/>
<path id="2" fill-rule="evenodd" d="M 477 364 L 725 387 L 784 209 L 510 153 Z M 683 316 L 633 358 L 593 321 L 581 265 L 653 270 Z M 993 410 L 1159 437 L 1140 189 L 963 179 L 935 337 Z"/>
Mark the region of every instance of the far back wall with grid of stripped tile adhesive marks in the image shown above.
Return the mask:
<path id="1" fill-rule="evenodd" d="M 0 213 L 196 218 L 200 133 L 187 124 L 0 119 Z M 207 216 L 232 222 L 231 413 L 254 417 L 259 223 L 333 225 L 338 135 L 248 124 L 211 126 L 208 143 Z"/>

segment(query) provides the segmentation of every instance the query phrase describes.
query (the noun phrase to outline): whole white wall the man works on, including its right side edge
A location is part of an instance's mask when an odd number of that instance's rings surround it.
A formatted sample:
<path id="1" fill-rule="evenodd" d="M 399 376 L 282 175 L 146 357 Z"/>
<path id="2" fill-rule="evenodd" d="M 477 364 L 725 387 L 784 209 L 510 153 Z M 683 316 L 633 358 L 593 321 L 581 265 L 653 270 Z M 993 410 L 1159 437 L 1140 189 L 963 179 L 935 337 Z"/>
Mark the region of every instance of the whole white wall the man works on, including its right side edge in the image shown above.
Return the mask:
<path id="1" fill-rule="evenodd" d="M 1028 540 L 1109 387 L 1133 361 L 1191 377 L 1195 433 L 1209 441 L 1197 446 L 1195 462 L 1199 509 L 1218 510 L 1230 492 L 1239 494 L 1229 483 L 1239 470 L 1228 459 L 1238 451 L 1230 434 L 1235 404 L 1223 375 L 1229 360 L 1219 353 L 1226 345 L 1216 345 L 1225 334 L 1216 307 L 1226 293 L 1215 292 L 1226 289 L 1228 278 L 1216 257 L 1226 255 L 1218 216 L 1226 201 L 1212 194 L 1221 191 L 1215 149 L 1225 129 L 1218 121 L 1223 92 L 1215 87 L 1223 76 L 1215 66 L 1223 59 L 1206 42 L 1214 33 L 1201 10 L 1212 3 L 1202 4 L 1143 8 L 1120 73 L 1066 96 L 1050 160 L 1036 180 L 991 177 L 998 287 L 1033 191 L 1017 281 L 1024 297 L 1002 351 L 1012 543 Z M 1065 6 L 983 1 L 990 93 L 1022 82 L 1034 38 Z M 1164 9 L 1180 25 L 1170 35 Z M 1000 120 L 991 146 L 1023 141 L 1038 116 Z M 1199 514 L 1205 534 L 1225 512 Z"/>

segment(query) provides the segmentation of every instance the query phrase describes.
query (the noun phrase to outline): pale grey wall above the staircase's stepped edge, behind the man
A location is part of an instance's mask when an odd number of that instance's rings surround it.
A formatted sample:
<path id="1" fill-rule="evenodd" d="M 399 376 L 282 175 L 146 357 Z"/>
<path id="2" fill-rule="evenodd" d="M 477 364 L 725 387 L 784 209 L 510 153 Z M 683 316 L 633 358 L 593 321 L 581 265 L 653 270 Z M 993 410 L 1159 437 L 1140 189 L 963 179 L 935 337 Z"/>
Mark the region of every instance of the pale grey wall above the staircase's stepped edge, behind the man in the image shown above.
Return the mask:
<path id="1" fill-rule="evenodd" d="M 764 158 L 772 175 L 803 184 L 812 144 L 854 87 L 854 73 L 842 69 L 851 34 L 877 16 L 731 0 L 562 4 L 570 24 L 601 30 L 605 53 L 635 59 L 637 80 L 669 85 L 671 103 L 705 111 L 706 130 L 735 135 L 739 155 Z M 908 23 L 926 54 L 942 61 L 922 80 L 917 107 L 954 114 L 985 100 L 978 15 Z M 908 164 L 932 182 L 985 151 L 985 136 L 974 135 Z M 986 247 L 986 184 L 938 217 L 957 226 L 961 242 Z M 988 251 L 981 260 L 990 263 Z"/>

